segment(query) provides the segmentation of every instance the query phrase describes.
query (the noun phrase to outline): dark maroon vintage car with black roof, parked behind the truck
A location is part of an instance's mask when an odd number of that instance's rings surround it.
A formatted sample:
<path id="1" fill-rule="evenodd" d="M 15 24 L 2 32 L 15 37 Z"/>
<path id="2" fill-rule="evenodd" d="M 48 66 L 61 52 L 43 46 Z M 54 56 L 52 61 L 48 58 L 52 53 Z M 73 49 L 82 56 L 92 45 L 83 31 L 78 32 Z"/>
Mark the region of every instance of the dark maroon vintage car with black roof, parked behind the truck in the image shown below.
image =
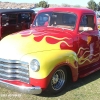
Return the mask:
<path id="1" fill-rule="evenodd" d="M 30 9 L 0 9 L 0 39 L 30 28 L 35 15 L 34 10 Z"/>

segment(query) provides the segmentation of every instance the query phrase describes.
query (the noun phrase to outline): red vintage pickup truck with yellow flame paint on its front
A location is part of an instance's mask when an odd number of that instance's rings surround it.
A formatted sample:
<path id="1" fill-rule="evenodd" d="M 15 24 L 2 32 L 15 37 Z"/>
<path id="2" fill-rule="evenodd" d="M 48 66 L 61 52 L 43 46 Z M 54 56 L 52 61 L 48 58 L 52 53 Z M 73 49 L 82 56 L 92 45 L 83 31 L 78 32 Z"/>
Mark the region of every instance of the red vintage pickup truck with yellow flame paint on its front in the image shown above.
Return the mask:
<path id="1" fill-rule="evenodd" d="M 46 8 L 30 29 L 0 41 L 0 86 L 29 94 L 61 92 L 100 69 L 100 32 L 93 10 Z"/>

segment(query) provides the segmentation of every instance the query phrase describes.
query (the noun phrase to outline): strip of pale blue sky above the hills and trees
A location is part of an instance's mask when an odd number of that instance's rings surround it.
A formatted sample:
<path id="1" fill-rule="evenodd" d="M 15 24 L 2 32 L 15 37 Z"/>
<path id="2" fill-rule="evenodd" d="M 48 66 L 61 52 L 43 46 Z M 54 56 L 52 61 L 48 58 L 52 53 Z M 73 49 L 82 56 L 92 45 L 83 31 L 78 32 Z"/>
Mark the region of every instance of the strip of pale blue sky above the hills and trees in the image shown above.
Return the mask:
<path id="1" fill-rule="evenodd" d="M 42 0 L 0 0 L 2 2 L 16 2 L 16 3 L 38 3 Z M 49 4 L 69 4 L 69 5 L 81 5 L 87 6 L 87 2 L 90 0 L 44 0 L 47 1 Z M 94 0 L 96 3 L 99 3 L 100 0 Z"/>

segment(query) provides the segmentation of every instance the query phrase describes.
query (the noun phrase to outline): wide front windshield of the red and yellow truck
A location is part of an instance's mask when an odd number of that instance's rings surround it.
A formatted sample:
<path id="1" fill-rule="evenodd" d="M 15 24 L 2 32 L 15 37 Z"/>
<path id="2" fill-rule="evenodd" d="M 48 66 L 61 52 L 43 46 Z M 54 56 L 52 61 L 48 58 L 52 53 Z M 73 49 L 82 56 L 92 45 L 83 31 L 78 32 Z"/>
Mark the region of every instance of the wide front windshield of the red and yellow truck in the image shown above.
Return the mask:
<path id="1" fill-rule="evenodd" d="M 76 18 L 76 15 L 73 13 L 45 12 L 37 15 L 33 26 L 52 26 L 74 29 Z"/>

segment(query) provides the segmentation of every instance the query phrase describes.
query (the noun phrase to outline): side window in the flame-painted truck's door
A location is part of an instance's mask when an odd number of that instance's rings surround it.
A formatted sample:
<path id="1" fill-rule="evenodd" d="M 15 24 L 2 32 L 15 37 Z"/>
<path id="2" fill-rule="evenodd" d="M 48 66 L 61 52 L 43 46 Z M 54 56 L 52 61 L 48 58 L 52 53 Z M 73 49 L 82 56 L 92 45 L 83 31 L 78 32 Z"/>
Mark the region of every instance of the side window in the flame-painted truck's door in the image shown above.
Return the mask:
<path id="1" fill-rule="evenodd" d="M 83 30 L 93 30 L 94 29 L 94 16 L 93 15 L 84 15 L 81 19 L 79 31 Z"/>

